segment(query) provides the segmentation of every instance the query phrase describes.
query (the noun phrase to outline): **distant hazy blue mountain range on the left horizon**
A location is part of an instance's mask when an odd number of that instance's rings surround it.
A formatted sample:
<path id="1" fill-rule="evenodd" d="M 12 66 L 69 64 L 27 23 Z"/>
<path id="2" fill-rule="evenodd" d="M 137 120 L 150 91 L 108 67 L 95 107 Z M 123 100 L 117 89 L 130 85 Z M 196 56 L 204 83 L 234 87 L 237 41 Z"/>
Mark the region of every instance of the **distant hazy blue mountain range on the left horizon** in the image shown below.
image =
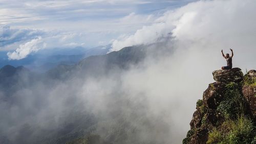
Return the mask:
<path id="1" fill-rule="evenodd" d="M 8 60 L 7 52 L 0 52 L 0 67 L 4 65 L 24 65 L 29 69 L 44 73 L 58 64 L 75 64 L 83 58 L 93 55 L 104 55 L 108 53 L 111 45 L 97 46 L 91 49 L 74 47 L 73 49 L 45 49 L 37 54 L 29 55 L 21 60 Z"/>

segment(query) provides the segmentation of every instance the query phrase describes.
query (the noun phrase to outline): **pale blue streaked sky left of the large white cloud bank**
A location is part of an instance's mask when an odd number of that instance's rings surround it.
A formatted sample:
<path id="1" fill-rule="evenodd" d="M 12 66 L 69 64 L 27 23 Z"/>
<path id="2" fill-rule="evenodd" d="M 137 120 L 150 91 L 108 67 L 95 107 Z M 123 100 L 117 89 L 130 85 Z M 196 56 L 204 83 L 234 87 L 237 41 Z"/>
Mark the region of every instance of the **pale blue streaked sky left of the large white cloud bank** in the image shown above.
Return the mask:
<path id="1" fill-rule="evenodd" d="M 17 50 L 9 58 L 22 59 L 40 49 L 110 44 L 156 23 L 167 10 L 190 2 L 193 0 L 1 0 L 0 51 Z M 24 45 L 34 49 L 24 52 Z"/>

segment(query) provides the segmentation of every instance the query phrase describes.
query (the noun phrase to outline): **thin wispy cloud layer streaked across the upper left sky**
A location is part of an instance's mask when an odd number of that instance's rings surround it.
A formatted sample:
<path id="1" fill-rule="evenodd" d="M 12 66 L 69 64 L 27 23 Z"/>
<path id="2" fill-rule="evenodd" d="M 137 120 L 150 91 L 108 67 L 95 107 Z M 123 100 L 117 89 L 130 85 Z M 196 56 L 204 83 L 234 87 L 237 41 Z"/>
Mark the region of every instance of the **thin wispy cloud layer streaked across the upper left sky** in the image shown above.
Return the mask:
<path id="1" fill-rule="evenodd" d="M 103 45 L 109 44 L 111 39 L 121 34 L 134 33 L 142 26 L 150 25 L 154 21 L 154 16 L 162 13 L 163 9 L 173 9 L 188 2 L 190 1 L 3 0 L 0 2 L 0 23 L 23 31 L 26 28 L 33 28 L 48 32 L 83 33 L 86 37 L 79 40 L 73 39 L 67 43 L 86 43 L 88 47 L 92 47 L 98 46 L 100 41 L 105 41 Z M 44 38 L 40 34 L 37 36 Z M 1 43 L 1 45 L 6 45 L 6 43 Z M 62 45 L 56 44 L 55 46 Z"/>

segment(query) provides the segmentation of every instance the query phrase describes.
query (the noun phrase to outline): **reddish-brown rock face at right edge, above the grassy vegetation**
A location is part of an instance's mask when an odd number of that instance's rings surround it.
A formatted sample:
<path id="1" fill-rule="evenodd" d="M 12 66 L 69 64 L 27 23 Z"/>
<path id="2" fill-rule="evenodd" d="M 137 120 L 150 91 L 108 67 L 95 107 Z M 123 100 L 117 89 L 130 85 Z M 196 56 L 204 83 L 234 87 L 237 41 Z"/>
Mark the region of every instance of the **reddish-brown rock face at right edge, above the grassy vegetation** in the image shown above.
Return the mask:
<path id="1" fill-rule="evenodd" d="M 253 120 L 256 122 L 256 86 L 243 86 L 243 94 L 249 104 Z"/>

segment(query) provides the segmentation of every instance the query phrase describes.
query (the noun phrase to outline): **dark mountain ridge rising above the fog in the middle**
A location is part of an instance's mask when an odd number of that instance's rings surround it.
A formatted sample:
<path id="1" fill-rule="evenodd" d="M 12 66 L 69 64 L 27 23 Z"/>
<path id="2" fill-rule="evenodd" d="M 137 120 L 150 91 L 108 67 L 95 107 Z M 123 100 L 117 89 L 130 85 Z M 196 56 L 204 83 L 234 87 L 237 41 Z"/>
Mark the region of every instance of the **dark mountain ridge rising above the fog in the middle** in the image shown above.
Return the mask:
<path id="1" fill-rule="evenodd" d="M 146 51 L 147 46 L 124 47 L 117 52 L 84 58 L 75 65 L 58 65 L 47 71 L 46 75 L 51 79 L 106 75 L 111 70 L 124 70 L 138 64 L 145 58 Z"/>

